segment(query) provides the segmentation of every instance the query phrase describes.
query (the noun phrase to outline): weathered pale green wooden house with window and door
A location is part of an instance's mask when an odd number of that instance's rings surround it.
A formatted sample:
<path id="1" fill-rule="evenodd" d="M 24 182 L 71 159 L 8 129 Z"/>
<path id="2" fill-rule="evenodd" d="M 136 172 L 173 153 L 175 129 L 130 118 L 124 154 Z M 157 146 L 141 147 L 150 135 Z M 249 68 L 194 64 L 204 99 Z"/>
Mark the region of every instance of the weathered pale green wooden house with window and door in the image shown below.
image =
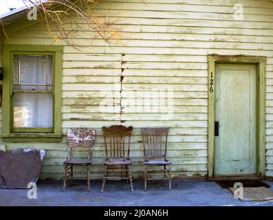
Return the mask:
<path id="1" fill-rule="evenodd" d="M 105 42 L 83 29 L 76 47 L 20 11 L 3 18 L 7 151 L 45 149 L 41 178 L 61 179 L 67 129 L 94 128 L 91 178 L 100 179 L 101 127 L 131 125 L 137 178 L 140 129 L 167 126 L 176 177 L 273 176 L 272 1 L 102 0 L 94 12 L 102 11 L 120 18 L 118 37 Z"/>

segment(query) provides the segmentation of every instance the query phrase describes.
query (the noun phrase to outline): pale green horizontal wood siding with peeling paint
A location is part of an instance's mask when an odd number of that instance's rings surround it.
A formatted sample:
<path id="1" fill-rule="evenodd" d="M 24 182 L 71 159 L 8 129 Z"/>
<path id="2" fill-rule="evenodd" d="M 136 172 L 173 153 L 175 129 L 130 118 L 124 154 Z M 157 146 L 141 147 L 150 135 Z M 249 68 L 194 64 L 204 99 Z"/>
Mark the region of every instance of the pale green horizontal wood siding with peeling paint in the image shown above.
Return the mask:
<path id="1" fill-rule="evenodd" d="M 94 12 L 109 13 L 118 19 L 120 39 L 111 45 L 90 39 L 93 32 L 80 32 L 72 39 L 74 47 L 63 53 L 63 134 L 68 128 L 87 126 L 97 129 L 91 177 L 101 178 L 105 156 L 102 126 L 134 126 L 131 157 L 133 177 L 143 176 L 143 126 L 169 126 L 169 159 L 174 175 L 207 173 L 208 148 L 208 65 L 207 54 L 267 56 L 266 66 L 266 175 L 273 176 L 273 3 L 242 0 L 244 20 L 234 21 L 237 1 L 219 0 L 103 0 Z M 205 5 L 206 4 L 206 5 Z M 81 23 L 81 21 L 79 21 Z M 84 23 L 81 26 L 87 28 Z M 69 25 L 66 27 L 69 29 Z M 10 34 L 7 44 L 51 45 L 45 27 L 32 25 Z M 57 41 L 56 45 L 63 42 Z M 120 79 L 122 76 L 122 83 Z M 173 89 L 173 118 L 164 113 L 138 113 L 127 104 L 151 89 Z M 100 113 L 105 99 L 102 89 L 118 91 L 118 108 Z M 120 93 L 120 90 L 122 92 Z M 162 98 L 162 97 L 160 97 Z M 120 113 L 120 104 L 122 113 Z M 142 108 L 144 103 L 139 103 Z M 166 109 L 165 109 L 166 110 Z M 41 178 L 60 179 L 67 157 L 65 137 L 61 143 L 6 143 L 16 147 L 47 150 Z M 76 152 L 83 157 L 84 148 Z"/>

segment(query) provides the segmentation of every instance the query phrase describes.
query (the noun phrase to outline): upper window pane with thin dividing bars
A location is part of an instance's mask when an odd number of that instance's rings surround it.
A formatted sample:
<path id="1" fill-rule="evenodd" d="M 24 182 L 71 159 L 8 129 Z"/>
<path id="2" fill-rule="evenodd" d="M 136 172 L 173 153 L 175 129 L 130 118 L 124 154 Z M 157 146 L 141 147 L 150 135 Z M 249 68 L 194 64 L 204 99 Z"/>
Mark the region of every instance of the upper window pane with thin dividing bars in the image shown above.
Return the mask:
<path id="1" fill-rule="evenodd" d="M 14 89 L 46 90 L 46 85 L 52 85 L 52 55 L 14 55 L 13 58 Z"/>

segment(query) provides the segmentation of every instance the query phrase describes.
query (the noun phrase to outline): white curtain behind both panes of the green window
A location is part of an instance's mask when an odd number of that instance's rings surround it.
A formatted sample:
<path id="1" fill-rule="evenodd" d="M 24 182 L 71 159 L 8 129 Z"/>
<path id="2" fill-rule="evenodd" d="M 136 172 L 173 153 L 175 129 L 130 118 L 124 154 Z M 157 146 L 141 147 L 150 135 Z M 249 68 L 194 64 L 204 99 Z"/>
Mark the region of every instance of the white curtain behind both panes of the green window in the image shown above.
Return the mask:
<path id="1" fill-rule="evenodd" d="M 52 86 L 48 86 L 52 85 L 52 61 L 48 61 L 48 59 L 52 59 L 52 56 L 48 57 L 15 55 L 14 90 L 52 90 Z M 14 92 L 13 103 L 15 128 L 53 126 L 53 96 L 51 92 Z"/>

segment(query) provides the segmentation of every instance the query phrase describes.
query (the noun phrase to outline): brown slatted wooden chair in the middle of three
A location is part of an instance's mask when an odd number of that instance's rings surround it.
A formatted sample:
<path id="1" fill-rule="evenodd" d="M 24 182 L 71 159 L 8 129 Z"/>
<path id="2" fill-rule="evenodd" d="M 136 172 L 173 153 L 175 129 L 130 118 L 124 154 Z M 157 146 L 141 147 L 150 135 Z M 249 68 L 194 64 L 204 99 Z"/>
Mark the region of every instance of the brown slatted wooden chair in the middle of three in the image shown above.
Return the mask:
<path id="1" fill-rule="evenodd" d="M 122 180 L 130 181 L 131 190 L 133 192 L 133 181 L 131 177 L 132 164 L 130 159 L 131 148 L 131 133 L 133 126 L 112 125 L 109 127 L 102 127 L 103 136 L 105 140 L 105 175 L 102 179 L 103 192 L 106 180 Z M 111 168 L 111 169 L 110 169 Z M 115 176 L 111 176 L 114 173 Z M 119 173 L 119 176 L 116 175 Z M 125 176 L 123 175 L 125 174 Z"/>

